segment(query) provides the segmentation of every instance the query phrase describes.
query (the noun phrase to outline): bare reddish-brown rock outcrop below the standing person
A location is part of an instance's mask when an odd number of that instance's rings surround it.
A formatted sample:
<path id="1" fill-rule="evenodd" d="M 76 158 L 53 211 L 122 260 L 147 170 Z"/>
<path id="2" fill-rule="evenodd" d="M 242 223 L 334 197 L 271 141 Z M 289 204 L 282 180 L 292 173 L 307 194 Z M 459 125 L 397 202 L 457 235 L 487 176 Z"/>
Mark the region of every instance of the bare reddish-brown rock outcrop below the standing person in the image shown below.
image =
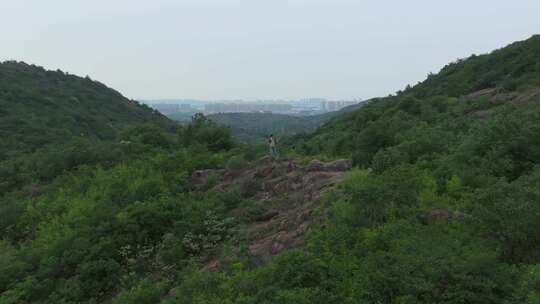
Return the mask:
<path id="1" fill-rule="evenodd" d="M 313 160 L 302 166 L 291 159 L 264 157 L 234 174 L 196 171 L 192 184 L 200 187 L 212 174 L 221 174 L 214 190 L 240 189 L 244 197 L 254 201 L 254 207 L 266 210 L 244 229 L 249 253 L 266 257 L 304 243 L 305 233 L 318 220 L 313 211 L 322 190 L 341 181 L 351 167 L 352 162 L 345 159 L 330 163 Z"/>

